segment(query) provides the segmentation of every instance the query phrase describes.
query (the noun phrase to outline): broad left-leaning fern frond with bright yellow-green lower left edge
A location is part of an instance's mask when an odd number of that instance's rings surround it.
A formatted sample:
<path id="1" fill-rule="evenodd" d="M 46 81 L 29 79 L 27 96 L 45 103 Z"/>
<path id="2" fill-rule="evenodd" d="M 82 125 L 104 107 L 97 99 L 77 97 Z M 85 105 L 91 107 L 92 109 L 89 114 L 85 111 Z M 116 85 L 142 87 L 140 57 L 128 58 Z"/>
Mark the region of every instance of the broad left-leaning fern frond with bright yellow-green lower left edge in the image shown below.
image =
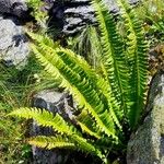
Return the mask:
<path id="1" fill-rule="evenodd" d="M 69 56 L 70 58 L 67 57 L 67 55 L 71 52 L 66 49 L 65 52 L 59 54 L 58 49 L 52 49 L 43 42 L 38 43 L 38 46 L 32 45 L 32 49 L 38 61 L 45 67 L 45 70 L 50 73 L 55 80 L 61 81 L 60 86 L 73 95 L 79 107 L 85 108 L 87 113 L 91 114 L 96 121 L 97 128 L 108 137 L 112 136 L 117 139 L 114 133 L 115 128 L 114 126 L 112 127 L 112 125 L 114 125 L 113 121 L 110 121 L 112 119 L 107 119 L 107 117 L 105 117 L 106 119 L 103 118 L 103 113 L 106 113 L 106 109 L 97 92 L 98 90 L 96 90 L 95 82 L 92 78 L 85 75 L 84 69 L 78 67 L 78 63 L 72 69 L 71 63 L 74 65 L 73 59 L 71 56 Z M 84 63 L 83 60 L 80 61 Z M 86 65 L 84 63 L 84 66 Z M 74 71 L 74 69 L 78 70 Z M 108 115 L 108 117 L 110 116 Z"/>

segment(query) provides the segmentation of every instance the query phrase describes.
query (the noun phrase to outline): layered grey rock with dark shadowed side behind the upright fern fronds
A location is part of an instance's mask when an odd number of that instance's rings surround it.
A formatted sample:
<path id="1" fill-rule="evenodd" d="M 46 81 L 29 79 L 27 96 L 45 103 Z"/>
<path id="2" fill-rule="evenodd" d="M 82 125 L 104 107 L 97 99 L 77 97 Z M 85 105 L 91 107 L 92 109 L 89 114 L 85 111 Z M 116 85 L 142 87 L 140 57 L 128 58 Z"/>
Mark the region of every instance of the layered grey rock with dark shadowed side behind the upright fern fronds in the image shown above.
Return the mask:
<path id="1" fill-rule="evenodd" d="M 136 4 L 139 0 L 129 0 Z M 55 35 L 73 35 L 85 27 L 86 24 L 95 24 L 94 10 L 90 0 L 45 0 L 49 5 L 49 27 L 56 28 Z M 118 13 L 119 9 L 115 0 L 104 0 L 109 12 Z M 46 7 L 47 7 L 46 5 Z M 58 34 L 60 32 L 60 34 Z"/>

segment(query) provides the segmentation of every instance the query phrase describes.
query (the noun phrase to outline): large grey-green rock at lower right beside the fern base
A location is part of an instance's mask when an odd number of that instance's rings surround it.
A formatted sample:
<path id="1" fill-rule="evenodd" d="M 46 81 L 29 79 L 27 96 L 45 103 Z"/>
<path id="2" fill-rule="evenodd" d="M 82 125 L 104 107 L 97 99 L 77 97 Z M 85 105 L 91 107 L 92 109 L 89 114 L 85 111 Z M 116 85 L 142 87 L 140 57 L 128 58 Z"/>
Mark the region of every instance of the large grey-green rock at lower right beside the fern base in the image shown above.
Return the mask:
<path id="1" fill-rule="evenodd" d="M 149 115 L 131 136 L 127 164 L 164 164 L 164 71 L 152 80 L 147 106 Z"/>

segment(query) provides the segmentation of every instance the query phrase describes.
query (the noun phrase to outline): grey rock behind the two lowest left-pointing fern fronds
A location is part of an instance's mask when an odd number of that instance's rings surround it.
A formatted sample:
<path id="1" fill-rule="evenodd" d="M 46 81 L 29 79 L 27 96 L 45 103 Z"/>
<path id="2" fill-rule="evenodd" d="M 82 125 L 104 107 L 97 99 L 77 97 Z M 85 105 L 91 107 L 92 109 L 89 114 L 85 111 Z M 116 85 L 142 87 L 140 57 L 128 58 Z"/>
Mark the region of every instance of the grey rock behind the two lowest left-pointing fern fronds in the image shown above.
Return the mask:
<path id="1" fill-rule="evenodd" d="M 33 106 L 39 108 L 46 108 L 51 113 L 59 113 L 66 119 L 71 118 L 72 113 L 68 109 L 68 106 L 72 106 L 71 96 L 58 91 L 42 91 L 33 98 Z M 38 127 L 36 122 L 33 122 L 32 136 L 54 134 L 52 129 Z M 68 160 L 68 151 L 65 150 L 44 150 L 33 147 L 34 164 L 65 164 Z"/>

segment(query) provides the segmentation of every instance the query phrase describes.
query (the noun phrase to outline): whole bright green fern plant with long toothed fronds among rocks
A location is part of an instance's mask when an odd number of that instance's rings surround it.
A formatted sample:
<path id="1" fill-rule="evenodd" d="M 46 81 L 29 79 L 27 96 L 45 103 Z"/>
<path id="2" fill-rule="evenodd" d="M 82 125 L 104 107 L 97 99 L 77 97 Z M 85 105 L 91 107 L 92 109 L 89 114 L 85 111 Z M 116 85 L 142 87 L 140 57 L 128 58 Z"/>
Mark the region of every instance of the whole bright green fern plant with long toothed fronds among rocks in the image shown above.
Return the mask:
<path id="1" fill-rule="evenodd" d="M 33 118 L 38 125 L 52 127 L 56 131 L 54 137 L 30 139 L 31 144 L 81 150 L 107 163 L 110 149 L 122 145 L 122 125 L 128 122 L 133 130 L 140 121 L 145 104 L 148 45 L 141 23 L 125 0 L 117 0 L 119 16 L 127 30 L 125 39 L 106 5 L 101 0 L 91 3 L 101 32 L 102 73 L 47 36 L 27 32 L 38 62 L 59 82 L 59 87 L 72 94 L 79 114 L 70 121 L 38 108 L 23 107 L 10 115 Z"/>

